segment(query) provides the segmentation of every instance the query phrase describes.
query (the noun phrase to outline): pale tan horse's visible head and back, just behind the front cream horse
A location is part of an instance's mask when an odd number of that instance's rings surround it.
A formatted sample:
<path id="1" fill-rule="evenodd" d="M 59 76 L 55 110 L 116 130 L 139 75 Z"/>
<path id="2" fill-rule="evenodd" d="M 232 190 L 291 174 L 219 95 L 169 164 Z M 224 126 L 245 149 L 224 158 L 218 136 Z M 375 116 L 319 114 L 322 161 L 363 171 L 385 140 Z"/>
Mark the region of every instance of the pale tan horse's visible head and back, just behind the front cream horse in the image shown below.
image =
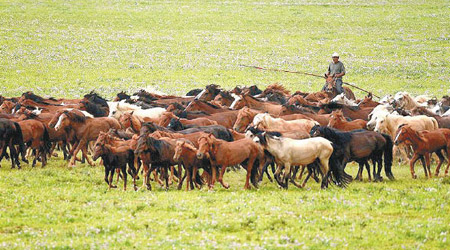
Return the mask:
<path id="1" fill-rule="evenodd" d="M 278 130 L 278 131 L 303 131 L 309 133 L 311 128 L 319 125 L 317 121 L 307 119 L 297 119 L 286 121 L 281 118 L 273 118 L 267 113 L 260 113 L 253 118 L 253 125 L 256 128 L 263 130 Z"/>

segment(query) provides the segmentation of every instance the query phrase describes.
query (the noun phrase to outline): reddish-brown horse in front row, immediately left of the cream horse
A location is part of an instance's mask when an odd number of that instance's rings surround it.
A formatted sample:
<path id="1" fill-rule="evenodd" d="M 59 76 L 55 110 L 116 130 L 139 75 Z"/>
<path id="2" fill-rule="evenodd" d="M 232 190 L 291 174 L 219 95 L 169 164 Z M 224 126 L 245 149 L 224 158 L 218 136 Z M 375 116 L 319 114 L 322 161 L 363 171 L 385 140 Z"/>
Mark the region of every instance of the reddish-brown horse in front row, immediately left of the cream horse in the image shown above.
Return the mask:
<path id="1" fill-rule="evenodd" d="M 211 161 L 212 181 L 210 188 L 214 187 L 216 179 L 216 171 L 220 169 L 219 182 L 224 188 L 229 188 L 230 185 L 223 181 L 223 174 L 228 166 L 242 164 L 246 166 L 247 177 L 245 180 L 244 189 L 249 189 L 249 180 L 252 179 L 252 184 L 257 187 L 257 172 L 262 169 L 264 165 L 264 151 L 261 146 L 254 143 L 251 139 L 242 139 L 233 142 L 226 142 L 224 140 L 216 139 L 212 134 L 202 136 L 198 139 L 197 158 L 203 159 L 206 157 Z M 255 161 L 259 161 L 259 168 L 253 168 Z"/>

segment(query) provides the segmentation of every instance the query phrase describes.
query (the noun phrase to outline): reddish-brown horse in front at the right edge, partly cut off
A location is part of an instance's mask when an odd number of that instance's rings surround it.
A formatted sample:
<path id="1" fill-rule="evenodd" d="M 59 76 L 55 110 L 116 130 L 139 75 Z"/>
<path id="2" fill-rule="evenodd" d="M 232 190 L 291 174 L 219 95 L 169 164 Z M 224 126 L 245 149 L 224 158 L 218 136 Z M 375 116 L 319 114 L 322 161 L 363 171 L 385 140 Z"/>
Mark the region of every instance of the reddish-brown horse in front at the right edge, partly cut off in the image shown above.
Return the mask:
<path id="1" fill-rule="evenodd" d="M 450 129 L 440 128 L 431 131 L 415 131 L 411 128 L 410 125 L 402 124 L 397 130 L 397 135 L 395 137 L 394 143 L 398 145 L 399 143 L 402 143 L 404 141 L 410 142 L 414 151 L 414 155 L 409 161 L 412 178 L 417 178 L 417 175 L 414 172 L 414 164 L 418 159 L 422 161 L 423 169 L 425 171 L 425 177 L 431 178 L 430 155 L 432 153 L 436 153 L 436 155 L 439 157 L 439 162 L 436 166 L 436 172 L 434 174 L 435 176 L 438 176 L 439 169 L 441 168 L 442 162 L 445 159 L 441 153 L 441 150 L 445 150 L 445 152 L 447 153 L 447 158 L 450 156 Z M 426 165 L 423 157 L 425 157 Z M 449 167 L 450 161 L 447 164 L 445 175 L 448 174 Z"/>

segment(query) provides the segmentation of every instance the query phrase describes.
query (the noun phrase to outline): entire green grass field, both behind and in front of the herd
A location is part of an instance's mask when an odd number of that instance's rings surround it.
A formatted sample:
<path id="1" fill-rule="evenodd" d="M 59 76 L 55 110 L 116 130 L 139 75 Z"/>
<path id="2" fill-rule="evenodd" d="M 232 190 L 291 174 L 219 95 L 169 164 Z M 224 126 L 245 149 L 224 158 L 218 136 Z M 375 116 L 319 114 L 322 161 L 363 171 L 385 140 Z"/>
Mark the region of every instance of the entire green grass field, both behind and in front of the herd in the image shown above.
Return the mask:
<path id="1" fill-rule="evenodd" d="M 345 81 L 375 94 L 450 93 L 448 1 L 0 1 L 0 94 L 110 98 L 153 86 L 184 94 L 279 82 L 316 91 L 334 51 Z M 357 96 L 363 93 L 355 91 Z M 450 180 L 347 189 L 108 191 L 102 167 L 61 159 L 0 168 L 0 248 L 449 249 Z M 349 166 L 355 174 L 356 167 Z M 366 177 L 367 179 L 367 177 Z M 121 183 L 120 183 L 121 185 Z M 119 185 L 119 186 L 120 186 Z"/>

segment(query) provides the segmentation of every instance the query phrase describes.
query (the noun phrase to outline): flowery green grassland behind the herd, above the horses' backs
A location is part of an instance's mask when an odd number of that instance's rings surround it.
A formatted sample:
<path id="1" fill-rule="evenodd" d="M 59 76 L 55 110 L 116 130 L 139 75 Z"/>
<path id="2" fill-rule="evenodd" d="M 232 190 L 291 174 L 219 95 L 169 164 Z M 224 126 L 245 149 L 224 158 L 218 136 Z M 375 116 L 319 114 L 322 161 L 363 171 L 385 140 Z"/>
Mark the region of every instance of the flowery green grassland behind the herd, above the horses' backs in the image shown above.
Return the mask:
<path id="1" fill-rule="evenodd" d="M 341 54 L 346 81 L 376 94 L 450 92 L 448 1 L 1 1 L 0 92 L 76 97 L 147 85 L 184 94 L 322 80 Z M 360 92 L 357 92 L 361 95 Z"/>

